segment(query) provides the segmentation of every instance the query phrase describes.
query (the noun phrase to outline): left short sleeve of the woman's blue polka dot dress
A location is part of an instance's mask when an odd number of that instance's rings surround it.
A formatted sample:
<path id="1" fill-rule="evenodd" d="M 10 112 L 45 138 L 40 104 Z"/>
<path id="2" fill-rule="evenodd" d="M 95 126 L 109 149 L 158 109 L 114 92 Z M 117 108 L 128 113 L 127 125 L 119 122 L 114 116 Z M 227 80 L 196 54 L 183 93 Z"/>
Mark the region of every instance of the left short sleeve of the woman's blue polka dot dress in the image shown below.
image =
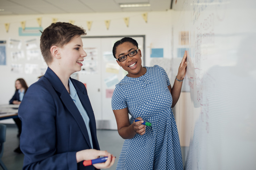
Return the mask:
<path id="1" fill-rule="evenodd" d="M 111 105 L 112 110 L 120 110 L 127 107 L 125 95 L 123 93 L 124 90 L 120 87 L 120 85 L 116 85 L 116 88 L 114 90 Z"/>

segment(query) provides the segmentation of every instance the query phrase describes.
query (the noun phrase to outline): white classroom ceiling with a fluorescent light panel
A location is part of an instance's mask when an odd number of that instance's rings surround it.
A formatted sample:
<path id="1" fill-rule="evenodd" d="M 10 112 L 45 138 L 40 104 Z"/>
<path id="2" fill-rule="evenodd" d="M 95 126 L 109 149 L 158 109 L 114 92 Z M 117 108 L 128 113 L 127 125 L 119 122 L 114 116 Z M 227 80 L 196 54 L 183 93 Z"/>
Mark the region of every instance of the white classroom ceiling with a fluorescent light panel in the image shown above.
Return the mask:
<path id="1" fill-rule="evenodd" d="M 87 12 L 163 11 L 172 0 L 0 0 L 0 15 L 36 15 Z M 119 4 L 150 4 L 121 8 Z"/>

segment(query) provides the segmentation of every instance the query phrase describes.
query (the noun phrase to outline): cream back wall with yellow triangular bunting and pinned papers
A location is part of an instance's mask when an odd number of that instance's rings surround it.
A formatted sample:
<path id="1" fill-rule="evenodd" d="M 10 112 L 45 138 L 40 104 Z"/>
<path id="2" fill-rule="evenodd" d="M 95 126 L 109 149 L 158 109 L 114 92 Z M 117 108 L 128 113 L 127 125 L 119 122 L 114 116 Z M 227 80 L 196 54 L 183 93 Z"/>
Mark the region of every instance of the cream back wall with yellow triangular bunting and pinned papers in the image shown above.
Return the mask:
<path id="1" fill-rule="evenodd" d="M 75 25 L 82 26 L 87 30 L 86 36 L 124 36 L 124 35 L 145 35 L 145 66 L 154 65 L 151 63 L 151 48 L 163 48 L 163 57 L 170 59 L 172 57 L 172 31 L 171 18 L 174 11 L 154 11 L 147 13 L 147 22 L 142 17 L 144 11 L 141 12 L 119 12 L 119 13 L 72 13 L 72 14 L 49 14 L 49 15 L 18 15 L 18 16 L 1 16 L 0 32 L 1 40 L 6 40 L 6 65 L 0 65 L 0 74 L 2 83 L 0 84 L 0 104 L 8 104 L 14 94 L 14 83 L 17 78 L 24 78 L 28 85 L 37 81 L 37 77 L 44 74 L 46 64 L 42 56 L 29 57 L 26 44 L 30 42 L 37 43 L 34 47 L 35 51 L 39 50 L 40 36 L 20 36 L 19 28 L 21 21 L 26 21 L 26 28 L 39 27 L 37 18 L 41 18 L 42 29 L 48 27 L 52 23 L 52 19 L 56 18 L 60 22 L 75 21 Z M 129 17 L 129 26 L 127 27 L 124 18 Z M 105 20 L 110 20 L 109 28 L 106 28 Z M 87 21 L 92 21 L 90 30 L 87 27 Z M 5 29 L 5 23 L 10 23 L 9 31 Z M 26 29 L 25 29 L 26 30 Z M 12 40 L 20 40 L 21 48 L 10 46 Z M 84 44 L 84 47 L 90 47 L 90 44 Z M 13 57 L 13 52 L 22 51 L 23 57 Z M 112 51 L 112 48 L 109 49 Z M 12 65 L 16 68 L 13 69 Z M 32 69 L 27 68 L 30 64 Z M 19 66 L 21 67 L 19 67 Z M 18 68 L 17 68 L 18 67 Z M 12 70 L 13 69 L 13 70 Z M 11 71 L 12 70 L 12 71 Z M 90 89 L 88 89 L 90 90 Z M 11 121 L 11 120 L 8 120 Z M 7 122 L 8 122 L 7 121 Z"/>

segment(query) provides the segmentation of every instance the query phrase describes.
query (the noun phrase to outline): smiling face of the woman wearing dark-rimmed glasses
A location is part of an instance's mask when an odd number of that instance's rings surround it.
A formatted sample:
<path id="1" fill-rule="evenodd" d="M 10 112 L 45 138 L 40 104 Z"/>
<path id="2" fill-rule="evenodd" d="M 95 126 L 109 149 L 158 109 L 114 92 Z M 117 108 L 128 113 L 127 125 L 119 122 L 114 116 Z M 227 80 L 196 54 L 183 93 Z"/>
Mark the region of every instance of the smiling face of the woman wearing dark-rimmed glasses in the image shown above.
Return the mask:
<path id="1" fill-rule="evenodd" d="M 120 58 L 124 55 L 129 54 L 130 52 L 138 49 L 135 45 L 130 42 L 124 42 L 120 44 L 116 48 L 116 58 Z M 124 70 L 128 72 L 128 77 L 140 77 L 145 74 L 145 69 L 143 69 L 141 65 L 141 51 L 138 50 L 138 53 L 133 57 L 127 55 L 127 59 L 125 61 L 119 62 L 117 61 L 119 66 L 121 66 Z"/>

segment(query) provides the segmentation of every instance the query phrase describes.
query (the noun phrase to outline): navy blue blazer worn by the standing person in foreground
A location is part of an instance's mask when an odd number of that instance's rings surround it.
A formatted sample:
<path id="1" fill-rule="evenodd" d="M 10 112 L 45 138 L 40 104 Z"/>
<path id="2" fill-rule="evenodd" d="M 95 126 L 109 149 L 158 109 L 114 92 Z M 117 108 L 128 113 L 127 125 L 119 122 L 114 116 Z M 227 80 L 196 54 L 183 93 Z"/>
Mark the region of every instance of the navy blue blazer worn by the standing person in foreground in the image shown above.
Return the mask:
<path id="1" fill-rule="evenodd" d="M 94 112 L 85 86 L 70 78 L 90 118 L 93 148 L 99 150 Z M 20 148 L 23 169 L 95 170 L 76 163 L 76 152 L 91 149 L 83 118 L 58 76 L 48 67 L 46 73 L 27 90 L 18 109 L 22 121 Z"/>

